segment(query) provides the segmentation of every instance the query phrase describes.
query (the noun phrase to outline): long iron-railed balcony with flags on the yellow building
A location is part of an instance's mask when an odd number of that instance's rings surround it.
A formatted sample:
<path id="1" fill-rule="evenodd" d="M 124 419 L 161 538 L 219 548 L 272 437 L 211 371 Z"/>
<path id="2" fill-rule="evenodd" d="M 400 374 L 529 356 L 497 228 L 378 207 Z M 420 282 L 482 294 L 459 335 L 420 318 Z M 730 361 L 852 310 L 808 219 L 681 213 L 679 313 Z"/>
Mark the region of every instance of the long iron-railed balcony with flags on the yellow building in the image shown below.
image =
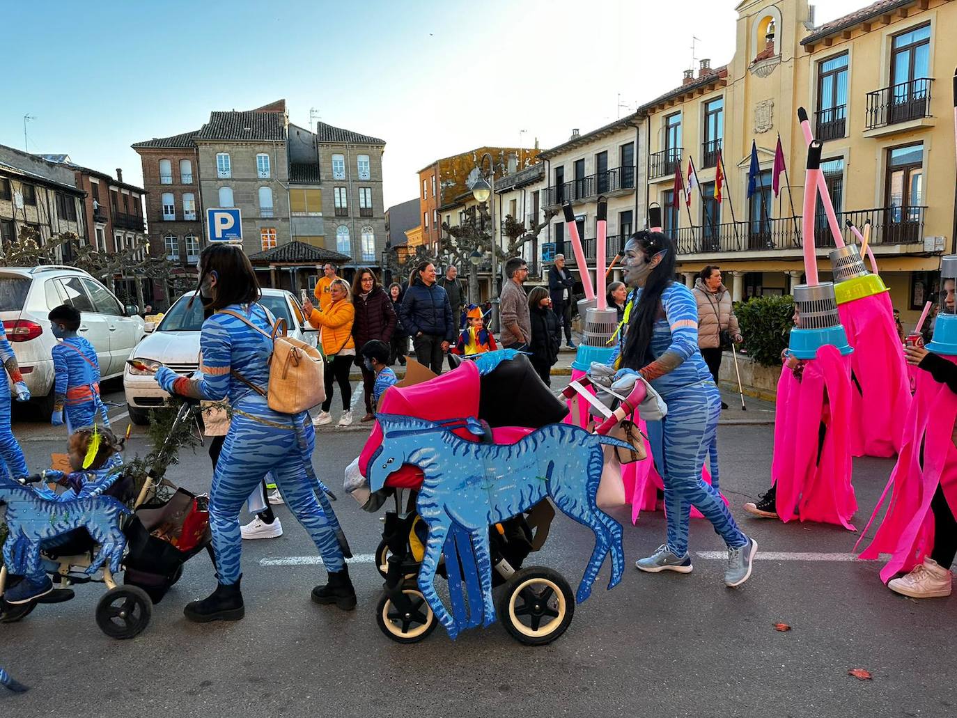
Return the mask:
<path id="1" fill-rule="evenodd" d="M 855 241 L 846 226 L 858 229 L 871 223 L 871 245 L 918 244 L 924 241 L 925 207 L 879 207 L 837 213 L 845 242 Z M 713 227 L 680 227 L 675 236 L 679 255 L 699 255 L 764 250 L 800 250 L 803 246 L 801 217 L 775 217 L 762 221 L 726 222 Z M 814 246 L 833 248 L 834 238 L 827 218 L 819 213 L 814 221 Z M 675 233 L 673 233 L 675 234 Z"/>

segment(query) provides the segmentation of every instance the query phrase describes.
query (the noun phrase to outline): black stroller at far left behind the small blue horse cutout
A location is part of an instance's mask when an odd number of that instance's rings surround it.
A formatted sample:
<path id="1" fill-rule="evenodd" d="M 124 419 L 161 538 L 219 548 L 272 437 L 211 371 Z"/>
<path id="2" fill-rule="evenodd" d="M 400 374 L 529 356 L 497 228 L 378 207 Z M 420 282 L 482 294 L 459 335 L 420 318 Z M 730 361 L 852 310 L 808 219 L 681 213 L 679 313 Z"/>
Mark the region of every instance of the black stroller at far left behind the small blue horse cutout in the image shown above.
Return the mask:
<path id="1" fill-rule="evenodd" d="M 153 605 L 158 604 L 180 579 L 183 564 L 202 550 L 208 550 L 212 557 L 206 497 L 194 496 L 183 488 L 176 488 L 167 500 L 158 496 L 161 486 L 175 488 L 162 476 L 174 456 L 173 437 L 177 430 L 195 425 L 199 411 L 199 402 L 195 400 L 186 400 L 179 407 L 156 461 L 146 474 L 143 488 L 133 502 L 132 512 L 124 505 L 133 494 L 132 478 L 128 475 L 121 476 L 104 495 L 89 500 L 89 505 L 94 508 L 87 509 L 87 515 L 96 513 L 97 508 L 104 508 L 108 516 L 103 519 L 107 524 L 105 528 L 111 532 L 119 529 L 125 539 L 122 584 L 117 583 L 109 558 L 102 564 L 101 572 L 89 571 L 102 561 L 99 554 L 106 547 L 94 541 L 88 522 L 78 522 L 78 527 L 56 537 L 56 548 L 41 549 L 43 568 L 51 575 L 55 586 L 58 584 L 53 593 L 29 603 L 7 603 L 2 596 L 8 588 L 10 576 L 6 567 L 0 568 L 0 622 L 20 620 L 33 612 L 39 603 L 71 600 L 75 594 L 70 586 L 102 583 L 107 591 L 97 604 L 96 620 L 100 630 L 112 639 L 131 639 L 145 630 Z M 162 468 L 158 470 L 158 467 Z M 30 488 L 30 484 L 43 481 L 42 475 L 20 480 L 22 488 L 19 491 L 12 489 L 14 495 L 8 502 L 36 515 L 49 511 L 56 504 Z M 109 511 L 111 508 L 112 512 Z M 81 526 L 84 523 L 85 526 Z M 120 541 L 121 548 L 122 543 Z"/>

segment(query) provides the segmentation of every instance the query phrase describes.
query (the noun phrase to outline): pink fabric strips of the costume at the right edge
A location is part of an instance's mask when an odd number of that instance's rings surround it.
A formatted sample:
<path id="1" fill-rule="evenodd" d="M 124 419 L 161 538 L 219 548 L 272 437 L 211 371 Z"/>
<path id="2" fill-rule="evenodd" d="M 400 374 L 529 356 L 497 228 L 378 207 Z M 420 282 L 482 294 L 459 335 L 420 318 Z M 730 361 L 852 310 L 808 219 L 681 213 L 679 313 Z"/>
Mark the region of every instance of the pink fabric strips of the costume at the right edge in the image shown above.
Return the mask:
<path id="1" fill-rule="evenodd" d="M 957 357 L 942 358 L 957 364 Z M 952 439 L 955 420 L 957 394 L 946 384 L 935 381 L 929 372 L 919 371 L 917 393 L 904 425 L 901 454 L 867 527 L 874 523 L 890 495 L 887 514 L 870 545 L 860 553 L 861 558 L 869 559 L 877 559 L 881 553 L 891 554 L 891 560 L 880 570 L 884 583 L 895 574 L 909 572 L 923 563 L 924 556 L 933 549 L 934 514 L 930 501 L 938 484 L 944 490 L 950 509 L 957 514 L 954 509 L 957 506 L 957 448 Z"/>

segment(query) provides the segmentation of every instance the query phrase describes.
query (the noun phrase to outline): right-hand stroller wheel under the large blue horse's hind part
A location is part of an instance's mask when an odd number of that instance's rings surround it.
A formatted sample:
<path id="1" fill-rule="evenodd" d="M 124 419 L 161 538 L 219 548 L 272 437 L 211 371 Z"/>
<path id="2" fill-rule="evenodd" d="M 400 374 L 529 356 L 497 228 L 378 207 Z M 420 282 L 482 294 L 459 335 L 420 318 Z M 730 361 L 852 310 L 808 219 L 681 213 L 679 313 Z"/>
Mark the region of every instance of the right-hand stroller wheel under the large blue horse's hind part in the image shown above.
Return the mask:
<path id="1" fill-rule="evenodd" d="M 575 613 L 575 595 L 561 573 L 529 566 L 508 579 L 496 610 L 513 639 L 525 645 L 545 645 L 568 629 Z"/>

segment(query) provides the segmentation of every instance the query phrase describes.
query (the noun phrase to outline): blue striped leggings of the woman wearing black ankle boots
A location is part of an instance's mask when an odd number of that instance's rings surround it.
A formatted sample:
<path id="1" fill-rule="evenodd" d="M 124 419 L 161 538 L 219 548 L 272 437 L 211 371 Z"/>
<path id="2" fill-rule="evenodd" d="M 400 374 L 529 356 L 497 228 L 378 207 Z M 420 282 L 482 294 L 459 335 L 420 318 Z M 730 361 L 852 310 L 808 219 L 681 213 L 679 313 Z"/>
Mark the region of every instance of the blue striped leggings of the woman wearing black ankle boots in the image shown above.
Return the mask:
<path id="1" fill-rule="evenodd" d="M 264 424 L 240 411 L 283 426 Z M 326 570 L 338 572 L 345 566 L 333 528 L 335 515 L 326 516 L 316 499 L 317 484 L 306 474 L 292 422 L 292 416 L 277 414 L 256 400 L 241 401 L 234 411 L 210 492 L 212 547 L 222 584 L 234 584 L 239 579 L 242 545 L 239 512 L 262 477 L 271 471 L 282 499 L 319 549 Z M 311 460 L 316 434 L 309 421 L 303 423 L 307 456 Z"/>

